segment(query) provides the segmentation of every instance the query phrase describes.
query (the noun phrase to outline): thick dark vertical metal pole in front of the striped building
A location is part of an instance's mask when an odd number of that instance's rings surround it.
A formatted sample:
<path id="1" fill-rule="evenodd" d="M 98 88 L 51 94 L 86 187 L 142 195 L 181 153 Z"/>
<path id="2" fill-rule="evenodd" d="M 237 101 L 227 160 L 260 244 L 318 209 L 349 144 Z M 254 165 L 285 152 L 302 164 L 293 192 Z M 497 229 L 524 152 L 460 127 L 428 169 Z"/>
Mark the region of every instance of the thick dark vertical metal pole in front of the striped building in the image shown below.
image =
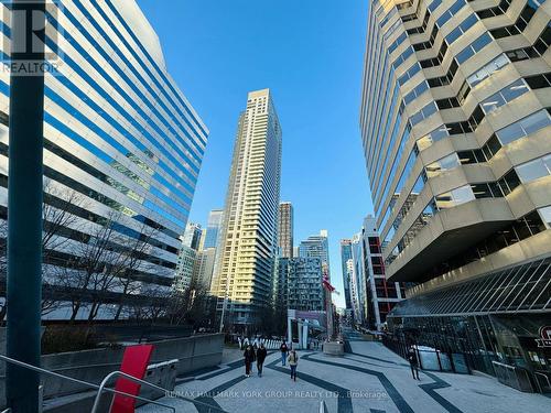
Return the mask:
<path id="1" fill-rule="evenodd" d="M 45 0 L 13 0 L 11 10 L 7 351 L 40 366 Z M 39 387 L 36 371 L 7 366 L 13 413 L 39 412 Z"/>

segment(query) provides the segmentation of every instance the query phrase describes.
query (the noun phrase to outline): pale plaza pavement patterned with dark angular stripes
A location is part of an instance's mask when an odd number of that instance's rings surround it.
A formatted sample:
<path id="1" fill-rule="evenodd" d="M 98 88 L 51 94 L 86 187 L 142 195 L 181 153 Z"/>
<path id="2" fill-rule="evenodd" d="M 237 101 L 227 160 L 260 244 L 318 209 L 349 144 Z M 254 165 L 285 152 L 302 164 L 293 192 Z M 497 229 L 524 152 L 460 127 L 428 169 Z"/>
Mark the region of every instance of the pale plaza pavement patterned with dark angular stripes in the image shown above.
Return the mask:
<path id="1" fill-rule="evenodd" d="M 245 367 L 238 358 L 179 385 L 176 391 L 236 413 L 317 413 L 322 400 L 331 413 L 550 411 L 551 399 L 521 393 L 485 376 L 421 372 L 421 381 L 413 380 L 404 360 L 379 343 L 353 340 L 350 350 L 344 358 L 301 351 L 296 382 L 290 379 L 289 367 L 281 366 L 279 354 L 272 354 L 262 378 L 245 378 Z M 202 405 L 176 399 L 165 398 L 163 402 L 177 412 L 208 412 Z M 163 409 L 143 406 L 138 411 L 153 413 Z"/>

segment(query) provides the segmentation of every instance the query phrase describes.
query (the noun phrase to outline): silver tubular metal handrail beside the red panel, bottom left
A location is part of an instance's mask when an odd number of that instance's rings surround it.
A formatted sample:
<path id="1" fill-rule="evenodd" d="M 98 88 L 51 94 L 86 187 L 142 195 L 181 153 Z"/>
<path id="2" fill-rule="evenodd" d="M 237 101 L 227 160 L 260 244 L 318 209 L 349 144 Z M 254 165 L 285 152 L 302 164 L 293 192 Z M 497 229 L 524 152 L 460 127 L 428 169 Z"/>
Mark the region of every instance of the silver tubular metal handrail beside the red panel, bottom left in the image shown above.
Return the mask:
<path id="1" fill-rule="evenodd" d="M 72 377 L 68 377 L 68 376 L 63 376 L 63 374 L 56 373 L 54 371 L 50 371 L 50 370 L 36 367 L 36 366 L 28 365 L 26 362 L 15 360 L 15 359 L 12 359 L 12 358 L 3 356 L 3 355 L 0 355 L 0 360 L 3 360 L 6 362 L 9 362 L 9 363 L 14 365 L 14 366 L 22 367 L 24 369 L 29 369 L 29 370 L 33 370 L 33 371 L 40 372 L 41 374 L 51 376 L 51 377 L 55 377 L 57 379 L 72 381 L 74 383 L 82 384 L 82 385 L 87 387 L 89 389 L 97 390 L 98 394 L 96 395 L 96 399 L 94 401 L 94 406 L 93 406 L 90 413 L 96 413 L 97 412 L 97 409 L 99 406 L 99 401 L 100 401 L 101 395 L 102 395 L 104 392 L 108 392 L 108 393 L 111 393 L 111 394 L 119 394 L 119 395 L 123 395 L 123 396 L 127 396 L 127 398 L 132 398 L 134 400 L 139 400 L 139 401 L 144 402 L 144 403 L 155 404 L 155 405 L 159 405 L 159 406 L 162 406 L 162 407 L 165 407 L 165 409 L 170 409 L 173 412 L 176 412 L 176 407 L 171 406 L 169 404 L 161 403 L 161 402 L 158 402 L 155 400 L 142 398 L 140 395 L 134 395 L 134 394 L 126 393 L 123 391 L 119 391 L 119 390 L 115 390 L 115 389 L 108 388 L 107 383 L 109 382 L 110 379 L 112 379 L 116 376 L 121 376 L 125 379 L 128 379 L 130 381 L 134 381 L 134 382 L 138 382 L 140 384 L 144 384 L 144 385 L 154 388 L 154 389 L 156 389 L 159 391 L 162 391 L 164 394 L 171 394 L 172 398 L 183 400 L 183 401 L 192 403 L 194 405 L 202 405 L 202 406 L 208 409 L 207 412 L 228 413 L 228 412 L 226 412 L 226 411 L 224 411 L 222 409 L 218 409 L 216 406 L 213 406 L 210 404 L 203 403 L 201 401 L 193 400 L 193 399 L 190 399 L 190 398 L 185 398 L 183 395 L 180 395 L 180 394 L 175 393 L 174 391 L 171 391 L 171 390 L 168 390 L 168 389 L 163 389 L 163 388 L 158 387 L 158 385 L 155 385 L 153 383 L 150 383 L 150 382 L 144 381 L 144 380 L 137 379 L 133 376 L 129 376 L 129 374 L 123 373 L 121 371 L 114 371 L 114 372 L 107 374 L 107 377 L 98 385 L 98 384 L 90 383 L 90 382 L 87 382 L 87 381 L 84 381 L 84 380 L 79 380 L 79 379 L 75 379 L 75 378 L 72 378 Z M 11 412 L 11 409 L 7 409 L 2 413 L 10 413 L 10 412 Z"/>

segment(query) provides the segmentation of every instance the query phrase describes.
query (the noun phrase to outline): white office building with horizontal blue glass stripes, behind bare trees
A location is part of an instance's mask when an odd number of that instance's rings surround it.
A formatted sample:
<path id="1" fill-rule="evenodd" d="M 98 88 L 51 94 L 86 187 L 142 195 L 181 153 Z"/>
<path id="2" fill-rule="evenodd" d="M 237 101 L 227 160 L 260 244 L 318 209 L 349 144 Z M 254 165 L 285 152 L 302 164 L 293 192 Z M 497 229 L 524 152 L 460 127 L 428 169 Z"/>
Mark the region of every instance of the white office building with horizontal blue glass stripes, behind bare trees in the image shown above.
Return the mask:
<path id="1" fill-rule="evenodd" d="M 0 8 L 0 19 L 8 19 L 8 6 Z M 73 284 L 56 274 L 80 271 L 83 250 L 98 251 L 83 240 L 99 237 L 108 225 L 118 251 L 147 243 L 139 265 L 109 289 L 109 303 L 128 303 L 125 314 L 147 305 L 150 290 L 170 291 L 208 130 L 171 78 L 159 39 L 134 0 L 64 0 L 52 13 L 47 45 L 55 50 L 57 43 L 58 73 L 45 78 L 44 200 L 47 210 L 71 218 L 58 228 L 61 238 L 45 246 L 44 280 L 52 300 L 63 301 Z M 0 26 L 1 55 L 9 56 L 10 22 Z M 1 219 L 8 216 L 9 76 L 0 70 Z M 127 282 L 133 293 L 122 297 L 120 284 Z M 76 317 L 86 318 L 95 285 L 78 289 Z M 71 317 L 67 307 L 48 317 Z M 97 317 L 112 316 L 105 307 Z"/>

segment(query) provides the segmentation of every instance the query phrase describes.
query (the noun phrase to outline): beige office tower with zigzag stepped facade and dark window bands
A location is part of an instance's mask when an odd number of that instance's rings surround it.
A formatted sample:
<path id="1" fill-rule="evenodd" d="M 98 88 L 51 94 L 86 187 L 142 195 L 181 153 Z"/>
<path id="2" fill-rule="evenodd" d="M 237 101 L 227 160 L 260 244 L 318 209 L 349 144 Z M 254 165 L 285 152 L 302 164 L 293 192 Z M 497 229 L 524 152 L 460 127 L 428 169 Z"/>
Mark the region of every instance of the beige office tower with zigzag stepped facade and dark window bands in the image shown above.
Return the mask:
<path id="1" fill-rule="evenodd" d="M 369 7 L 360 126 L 377 228 L 388 280 L 418 284 L 388 320 L 422 326 L 421 345 L 486 349 L 475 368 L 490 373 L 496 355 L 531 370 L 545 358 L 550 19 L 532 0 Z"/>

